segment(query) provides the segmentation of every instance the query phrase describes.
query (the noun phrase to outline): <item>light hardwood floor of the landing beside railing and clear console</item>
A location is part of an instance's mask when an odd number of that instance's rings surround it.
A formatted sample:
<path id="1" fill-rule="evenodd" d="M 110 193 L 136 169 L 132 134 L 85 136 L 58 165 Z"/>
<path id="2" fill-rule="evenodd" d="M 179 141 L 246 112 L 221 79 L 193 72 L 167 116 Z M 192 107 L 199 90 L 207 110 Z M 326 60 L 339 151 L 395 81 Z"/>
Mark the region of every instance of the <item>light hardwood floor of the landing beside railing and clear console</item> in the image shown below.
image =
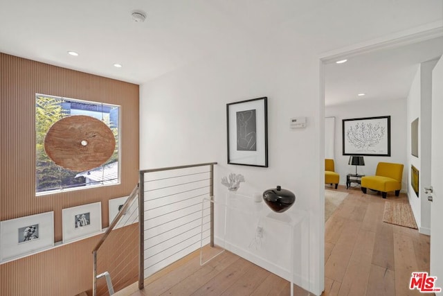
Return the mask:
<path id="1" fill-rule="evenodd" d="M 228 251 L 200 266 L 197 251 L 145 279 L 143 290 L 135 283 L 114 295 L 286 296 L 290 288 L 289 281 Z M 309 293 L 294 286 L 294 295 Z"/>

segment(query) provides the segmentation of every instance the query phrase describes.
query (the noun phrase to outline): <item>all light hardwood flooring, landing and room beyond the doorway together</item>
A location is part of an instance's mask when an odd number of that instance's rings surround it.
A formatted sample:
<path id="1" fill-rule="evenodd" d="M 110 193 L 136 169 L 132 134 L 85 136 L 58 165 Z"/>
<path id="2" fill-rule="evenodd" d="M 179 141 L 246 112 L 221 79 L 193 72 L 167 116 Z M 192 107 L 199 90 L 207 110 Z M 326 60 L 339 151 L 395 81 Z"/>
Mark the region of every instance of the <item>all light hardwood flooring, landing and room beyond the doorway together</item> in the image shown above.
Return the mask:
<path id="1" fill-rule="evenodd" d="M 325 224 L 325 291 L 323 296 L 420 295 L 409 290 L 413 271 L 429 271 L 429 236 L 382 222 L 384 202 L 407 202 L 388 194 L 384 200 L 359 188 L 325 189 L 349 193 Z M 203 267 L 199 252 L 116 295 L 289 295 L 289 282 L 230 252 Z M 307 295 L 296 287 L 294 295 Z"/>

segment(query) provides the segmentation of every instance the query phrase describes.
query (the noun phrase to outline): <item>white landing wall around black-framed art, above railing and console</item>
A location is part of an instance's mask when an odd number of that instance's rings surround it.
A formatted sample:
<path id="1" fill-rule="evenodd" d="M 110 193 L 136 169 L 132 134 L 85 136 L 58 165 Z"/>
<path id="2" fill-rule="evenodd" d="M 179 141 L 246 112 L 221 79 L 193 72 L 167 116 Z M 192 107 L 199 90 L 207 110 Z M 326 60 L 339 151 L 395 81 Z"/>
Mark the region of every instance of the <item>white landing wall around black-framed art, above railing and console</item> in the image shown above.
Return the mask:
<path id="1" fill-rule="evenodd" d="M 224 54 L 141 85 L 140 106 L 141 169 L 215 161 L 216 198 L 226 195 L 220 180 L 228 173 L 244 175 L 239 193 L 251 195 L 280 185 L 296 194 L 287 214 L 301 209 L 311 217 L 309 277 L 320 294 L 324 116 L 318 116 L 323 108 L 318 63 L 315 55 L 300 50 Z M 228 165 L 226 103 L 262 96 L 268 97 L 269 168 Z M 294 116 L 306 116 L 307 128 L 291 130 L 289 119 Z M 275 250 L 269 250 L 272 253 Z"/>

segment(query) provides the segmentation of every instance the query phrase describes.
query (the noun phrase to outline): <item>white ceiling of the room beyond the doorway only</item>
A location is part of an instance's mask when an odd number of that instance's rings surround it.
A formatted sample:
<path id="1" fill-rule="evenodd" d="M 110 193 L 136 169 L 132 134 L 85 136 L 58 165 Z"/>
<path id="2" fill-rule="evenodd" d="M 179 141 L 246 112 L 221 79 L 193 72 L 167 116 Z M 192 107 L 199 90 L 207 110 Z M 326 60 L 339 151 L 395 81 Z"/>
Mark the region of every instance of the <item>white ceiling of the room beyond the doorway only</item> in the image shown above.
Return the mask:
<path id="1" fill-rule="evenodd" d="M 325 66 L 325 104 L 406 98 L 419 63 L 442 54 L 443 37 L 438 37 L 331 62 Z M 365 96 L 357 96 L 361 93 Z"/>

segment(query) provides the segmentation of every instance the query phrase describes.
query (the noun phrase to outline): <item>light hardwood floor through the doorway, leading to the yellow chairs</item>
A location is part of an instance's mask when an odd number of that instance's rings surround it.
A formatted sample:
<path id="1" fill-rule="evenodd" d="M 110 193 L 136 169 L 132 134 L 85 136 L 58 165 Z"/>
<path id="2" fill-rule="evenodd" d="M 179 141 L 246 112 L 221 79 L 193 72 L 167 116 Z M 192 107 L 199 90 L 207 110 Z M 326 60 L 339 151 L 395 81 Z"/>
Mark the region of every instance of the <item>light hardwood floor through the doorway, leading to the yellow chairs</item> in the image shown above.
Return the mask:
<path id="1" fill-rule="evenodd" d="M 337 190 L 350 194 L 325 224 L 323 295 L 421 295 L 409 281 L 413 271 L 429 272 L 430 237 L 382 221 L 385 201 L 408 202 L 407 195 Z"/>

